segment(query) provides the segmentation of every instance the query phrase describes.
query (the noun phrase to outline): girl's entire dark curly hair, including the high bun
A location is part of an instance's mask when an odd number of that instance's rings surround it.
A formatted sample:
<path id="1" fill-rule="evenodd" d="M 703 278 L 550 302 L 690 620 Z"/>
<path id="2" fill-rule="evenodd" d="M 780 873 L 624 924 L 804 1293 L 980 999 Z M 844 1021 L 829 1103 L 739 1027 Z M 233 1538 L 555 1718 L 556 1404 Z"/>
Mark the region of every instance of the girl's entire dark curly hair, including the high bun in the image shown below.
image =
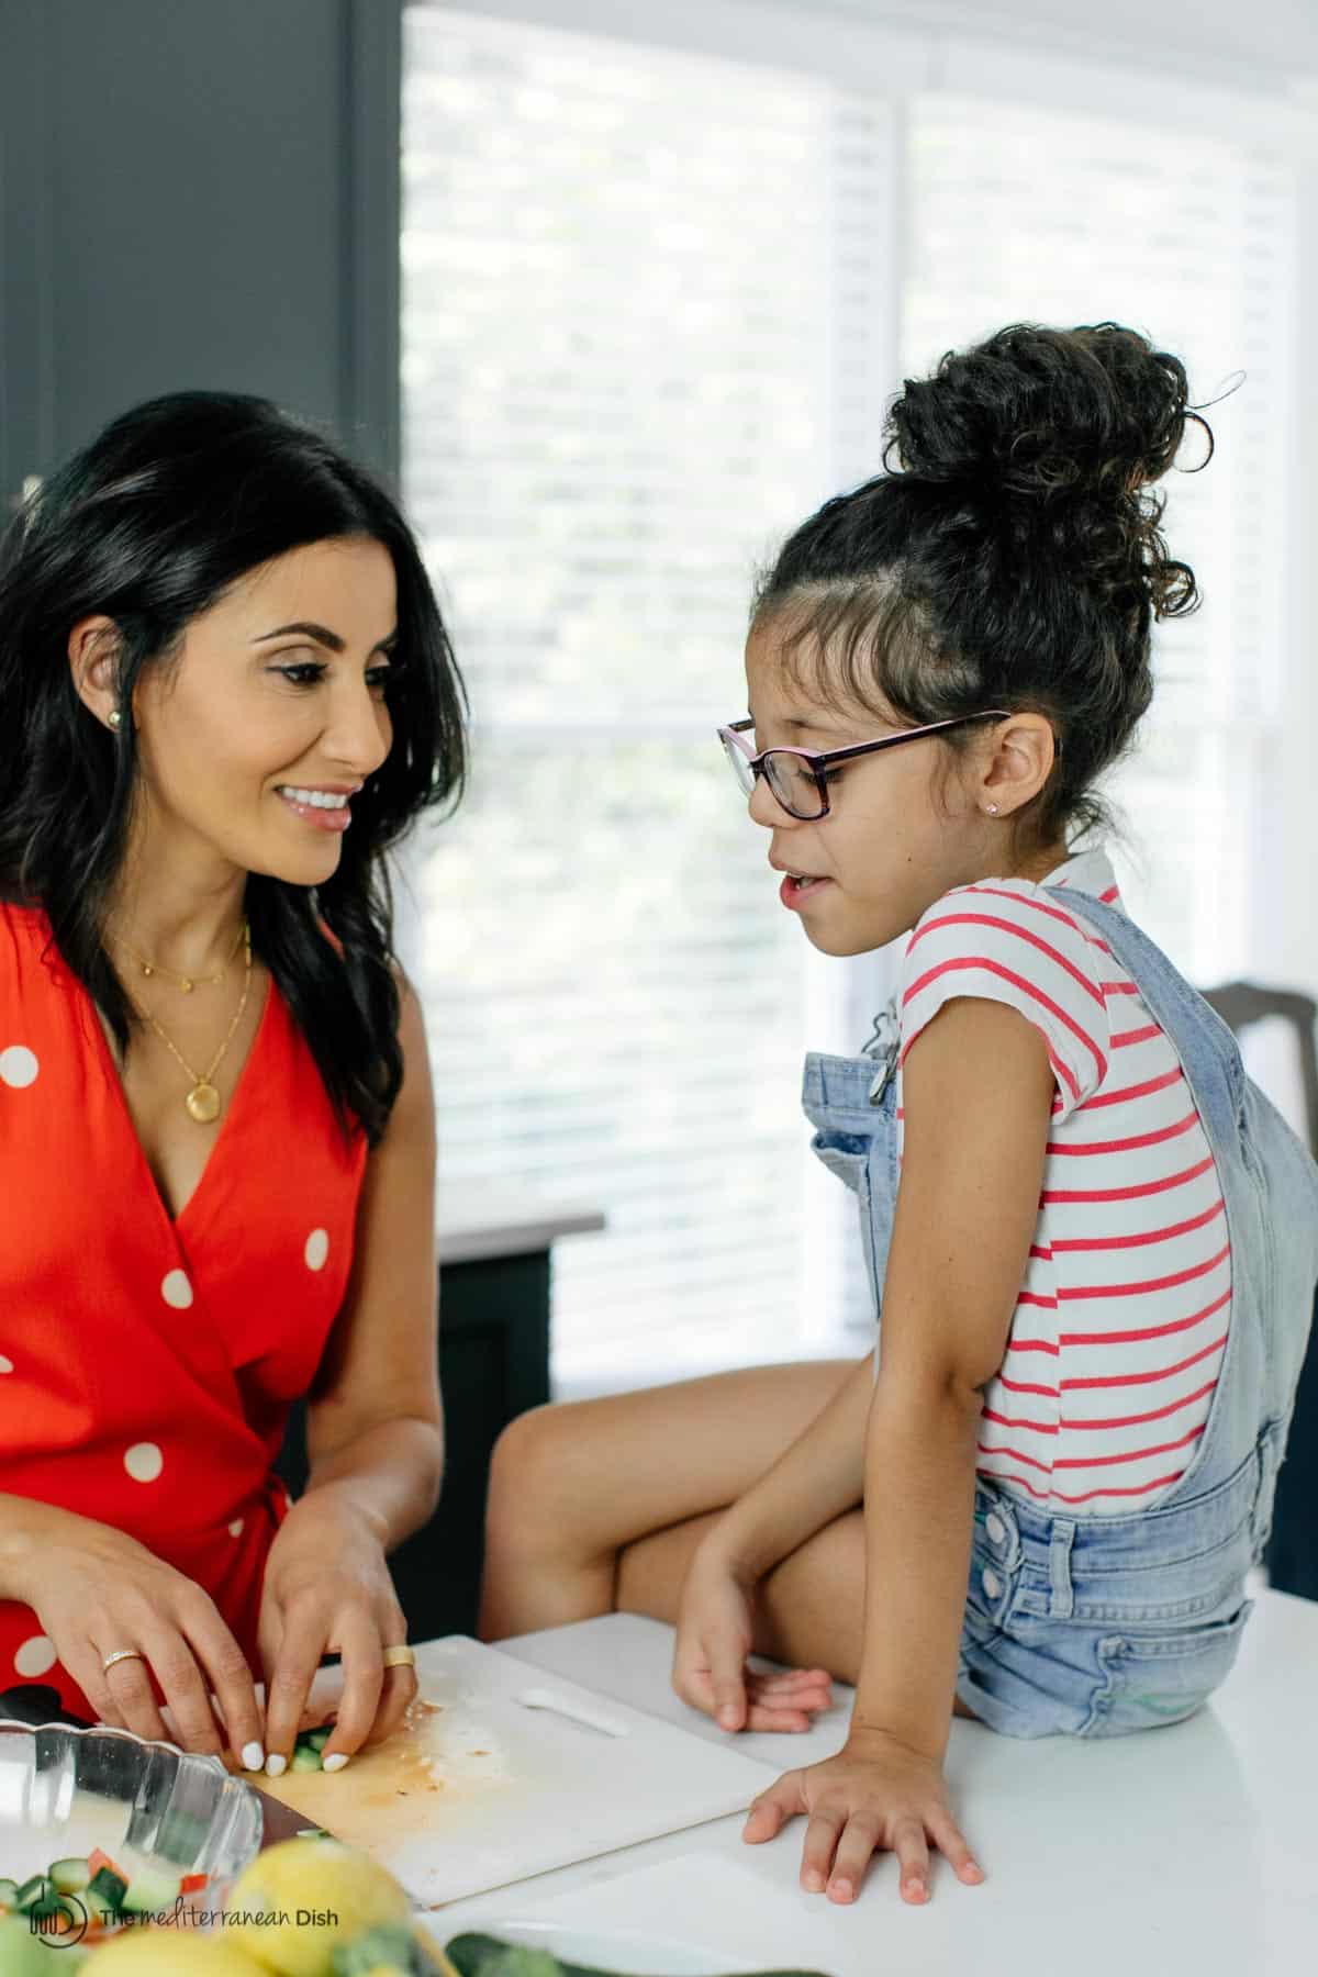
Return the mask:
<path id="1" fill-rule="evenodd" d="M 1152 621 L 1199 601 L 1148 490 L 1190 421 L 1211 457 L 1182 362 L 1116 322 L 1016 322 L 948 352 L 893 401 L 885 473 L 783 546 L 753 625 L 773 619 L 788 668 L 826 696 L 911 726 L 1047 716 L 1057 759 L 1014 818 L 1018 846 L 1075 842 L 1111 822 L 1091 785 L 1148 708 Z M 972 737 L 941 739 L 960 753 Z"/>

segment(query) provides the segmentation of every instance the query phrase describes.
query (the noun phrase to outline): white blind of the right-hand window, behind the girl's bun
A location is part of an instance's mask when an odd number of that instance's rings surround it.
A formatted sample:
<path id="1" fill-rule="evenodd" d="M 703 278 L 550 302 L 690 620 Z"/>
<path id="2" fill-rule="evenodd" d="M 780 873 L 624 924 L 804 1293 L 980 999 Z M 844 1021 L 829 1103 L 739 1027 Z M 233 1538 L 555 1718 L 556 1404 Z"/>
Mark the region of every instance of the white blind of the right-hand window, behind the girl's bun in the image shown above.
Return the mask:
<path id="1" fill-rule="evenodd" d="M 917 95 L 909 130 L 905 374 L 1004 322 L 1111 318 L 1176 352 L 1207 407 L 1213 461 L 1192 471 L 1192 429 L 1160 484 L 1203 605 L 1156 631 L 1154 702 L 1107 793 L 1126 903 L 1192 981 L 1227 981 L 1255 949 L 1277 795 L 1292 168 L 1229 136 L 952 93 Z"/>

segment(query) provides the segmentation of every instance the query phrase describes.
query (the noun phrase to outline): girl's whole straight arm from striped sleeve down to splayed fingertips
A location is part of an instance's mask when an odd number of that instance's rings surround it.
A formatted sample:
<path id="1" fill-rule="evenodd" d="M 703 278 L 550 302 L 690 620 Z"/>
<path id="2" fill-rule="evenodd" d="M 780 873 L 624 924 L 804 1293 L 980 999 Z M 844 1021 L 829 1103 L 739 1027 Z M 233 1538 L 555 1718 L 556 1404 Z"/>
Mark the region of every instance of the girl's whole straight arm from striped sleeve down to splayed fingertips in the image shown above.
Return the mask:
<path id="1" fill-rule="evenodd" d="M 788 1771 L 745 1829 L 808 1813 L 802 1884 L 852 1900 L 875 1848 L 901 1892 L 929 1892 L 927 1839 L 980 1872 L 947 1807 L 970 1560 L 980 1390 L 996 1374 L 1039 1214 L 1053 1072 L 1041 1034 L 1000 1002 L 958 998 L 903 1066 L 905 1153 L 865 1437 L 865 1647 L 846 1748 Z"/>

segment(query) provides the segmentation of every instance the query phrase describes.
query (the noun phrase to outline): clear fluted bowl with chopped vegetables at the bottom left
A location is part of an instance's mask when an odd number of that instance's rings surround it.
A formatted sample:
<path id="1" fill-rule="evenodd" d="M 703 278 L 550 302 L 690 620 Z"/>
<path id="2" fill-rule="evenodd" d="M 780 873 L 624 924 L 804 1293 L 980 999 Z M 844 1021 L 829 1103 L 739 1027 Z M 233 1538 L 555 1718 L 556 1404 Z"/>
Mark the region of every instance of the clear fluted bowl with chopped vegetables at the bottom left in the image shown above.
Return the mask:
<path id="1" fill-rule="evenodd" d="M 124 1868 L 150 1860 L 207 1874 L 198 1908 L 219 1908 L 261 1847 L 261 1801 L 217 1758 L 130 1730 L 0 1720 L 0 1876 L 101 1847 Z"/>

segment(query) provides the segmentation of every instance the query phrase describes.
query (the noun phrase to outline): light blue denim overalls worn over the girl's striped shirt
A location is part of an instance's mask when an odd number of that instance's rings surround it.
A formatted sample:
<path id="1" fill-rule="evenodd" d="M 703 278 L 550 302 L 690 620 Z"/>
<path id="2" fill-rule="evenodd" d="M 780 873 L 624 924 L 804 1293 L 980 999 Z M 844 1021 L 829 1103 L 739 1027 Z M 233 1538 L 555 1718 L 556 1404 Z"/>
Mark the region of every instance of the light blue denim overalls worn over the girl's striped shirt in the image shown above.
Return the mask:
<path id="1" fill-rule="evenodd" d="M 1190 1716 L 1235 1661 L 1314 1315 L 1318 1166 L 1166 955 L 1101 900 L 1043 890 L 1097 927 L 1172 1040 L 1231 1240 L 1231 1327 L 1207 1425 L 1152 1510 L 1059 1516 L 976 1479 L 956 1694 L 1010 1736 L 1114 1736 Z M 810 1054 L 802 1101 L 814 1151 L 860 1196 L 877 1307 L 897 1198 L 891 1014 L 865 1050 Z"/>

